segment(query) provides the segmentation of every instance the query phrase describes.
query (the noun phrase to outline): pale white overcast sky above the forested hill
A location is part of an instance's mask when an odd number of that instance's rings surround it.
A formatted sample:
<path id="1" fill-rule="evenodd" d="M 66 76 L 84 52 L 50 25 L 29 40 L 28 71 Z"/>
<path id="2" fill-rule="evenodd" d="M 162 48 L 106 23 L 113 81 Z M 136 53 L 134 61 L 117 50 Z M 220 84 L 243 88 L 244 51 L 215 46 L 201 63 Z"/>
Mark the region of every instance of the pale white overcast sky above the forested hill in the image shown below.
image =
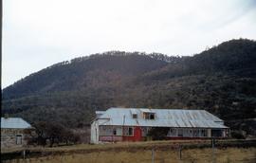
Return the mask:
<path id="1" fill-rule="evenodd" d="M 3 0 L 2 88 L 108 50 L 192 55 L 256 39 L 256 0 Z"/>

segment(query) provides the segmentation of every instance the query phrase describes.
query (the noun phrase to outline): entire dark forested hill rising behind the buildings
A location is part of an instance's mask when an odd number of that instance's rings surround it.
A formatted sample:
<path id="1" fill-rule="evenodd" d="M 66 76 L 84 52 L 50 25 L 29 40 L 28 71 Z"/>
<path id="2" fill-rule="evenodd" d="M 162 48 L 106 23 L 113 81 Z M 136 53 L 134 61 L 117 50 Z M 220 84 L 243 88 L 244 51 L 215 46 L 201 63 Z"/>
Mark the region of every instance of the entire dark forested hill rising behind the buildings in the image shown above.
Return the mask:
<path id="1" fill-rule="evenodd" d="M 254 133 L 256 42 L 231 40 L 192 57 L 110 51 L 57 63 L 2 91 L 2 114 L 81 127 L 113 106 L 206 109 Z M 246 126 L 246 127 L 245 127 Z M 254 125 L 255 126 L 255 125 Z"/>

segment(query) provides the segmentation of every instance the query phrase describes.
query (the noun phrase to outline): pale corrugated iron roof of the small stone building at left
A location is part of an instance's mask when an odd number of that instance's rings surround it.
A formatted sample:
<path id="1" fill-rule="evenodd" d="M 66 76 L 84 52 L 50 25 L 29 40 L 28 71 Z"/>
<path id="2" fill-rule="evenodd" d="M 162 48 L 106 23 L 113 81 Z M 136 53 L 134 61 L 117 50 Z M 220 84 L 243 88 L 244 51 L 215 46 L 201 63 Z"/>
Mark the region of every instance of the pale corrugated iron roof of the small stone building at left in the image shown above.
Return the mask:
<path id="1" fill-rule="evenodd" d="M 27 123 L 23 118 L 1 118 L 2 129 L 27 129 L 31 128 L 31 125 Z"/>

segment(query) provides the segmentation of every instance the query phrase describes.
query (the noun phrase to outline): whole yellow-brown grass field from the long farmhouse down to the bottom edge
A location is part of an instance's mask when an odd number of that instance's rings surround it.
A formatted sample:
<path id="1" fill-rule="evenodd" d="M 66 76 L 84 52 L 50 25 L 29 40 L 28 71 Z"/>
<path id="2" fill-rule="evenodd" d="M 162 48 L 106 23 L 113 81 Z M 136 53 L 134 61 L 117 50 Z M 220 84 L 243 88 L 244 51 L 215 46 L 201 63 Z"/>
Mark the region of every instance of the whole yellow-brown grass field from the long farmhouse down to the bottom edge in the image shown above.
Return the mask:
<path id="1" fill-rule="evenodd" d="M 56 148 L 34 148 L 31 151 L 41 154 L 27 155 L 26 159 L 16 158 L 3 162 L 9 163 L 132 163 L 152 162 L 152 149 L 154 149 L 155 163 L 233 163 L 256 162 L 256 148 L 218 147 L 214 150 L 209 147 L 183 148 L 179 158 L 178 145 L 198 144 L 196 141 L 151 141 L 151 142 L 124 142 L 101 145 L 76 145 Z M 210 142 L 203 142 L 210 143 Z M 172 146 L 170 145 L 172 144 Z"/>

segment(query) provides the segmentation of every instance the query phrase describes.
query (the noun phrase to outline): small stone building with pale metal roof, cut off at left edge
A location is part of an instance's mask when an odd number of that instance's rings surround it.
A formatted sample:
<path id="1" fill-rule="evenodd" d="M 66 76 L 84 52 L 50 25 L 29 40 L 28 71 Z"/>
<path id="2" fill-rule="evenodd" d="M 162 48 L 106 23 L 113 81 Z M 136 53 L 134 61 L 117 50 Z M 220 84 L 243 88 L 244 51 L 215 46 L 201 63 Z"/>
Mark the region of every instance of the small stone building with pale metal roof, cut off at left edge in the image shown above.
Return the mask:
<path id="1" fill-rule="evenodd" d="M 33 131 L 23 118 L 1 118 L 1 149 L 23 147 Z"/>

